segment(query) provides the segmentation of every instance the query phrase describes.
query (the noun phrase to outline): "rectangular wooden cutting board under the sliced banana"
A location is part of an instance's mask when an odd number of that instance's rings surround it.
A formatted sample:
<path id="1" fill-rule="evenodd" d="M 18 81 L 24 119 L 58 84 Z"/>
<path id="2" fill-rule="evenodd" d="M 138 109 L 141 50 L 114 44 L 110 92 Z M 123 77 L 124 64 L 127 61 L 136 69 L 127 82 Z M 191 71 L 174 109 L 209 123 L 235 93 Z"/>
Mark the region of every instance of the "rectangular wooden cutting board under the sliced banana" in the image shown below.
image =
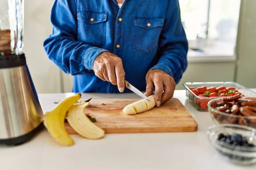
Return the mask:
<path id="1" fill-rule="evenodd" d="M 126 105 L 140 99 L 92 99 L 84 112 L 95 117 L 96 125 L 102 127 L 105 133 L 197 131 L 198 124 L 182 103 L 175 98 L 159 108 L 155 106 L 143 113 L 126 115 L 122 112 Z M 65 127 L 69 134 L 76 134 L 68 123 L 65 123 Z"/>

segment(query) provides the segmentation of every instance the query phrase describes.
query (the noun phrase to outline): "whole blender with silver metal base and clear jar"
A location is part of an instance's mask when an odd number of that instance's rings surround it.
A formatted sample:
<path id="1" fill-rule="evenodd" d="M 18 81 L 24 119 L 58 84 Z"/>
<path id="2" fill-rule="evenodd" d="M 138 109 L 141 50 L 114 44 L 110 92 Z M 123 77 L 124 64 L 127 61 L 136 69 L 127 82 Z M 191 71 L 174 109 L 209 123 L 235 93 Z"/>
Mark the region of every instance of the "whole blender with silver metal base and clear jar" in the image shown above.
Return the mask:
<path id="1" fill-rule="evenodd" d="M 0 144 L 28 142 L 44 127 L 23 48 L 24 0 L 0 0 Z"/>

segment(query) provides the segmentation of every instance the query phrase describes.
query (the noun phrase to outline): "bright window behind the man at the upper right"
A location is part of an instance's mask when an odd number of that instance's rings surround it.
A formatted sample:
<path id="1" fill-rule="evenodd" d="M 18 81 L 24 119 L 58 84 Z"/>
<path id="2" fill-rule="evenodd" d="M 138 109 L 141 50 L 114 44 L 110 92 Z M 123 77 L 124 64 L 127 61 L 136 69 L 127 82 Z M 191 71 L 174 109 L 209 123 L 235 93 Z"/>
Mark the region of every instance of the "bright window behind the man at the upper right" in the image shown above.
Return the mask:
<path id="1" fill-rule="evenodd" d="M 222 43 L 233 51 L 240 0 L 179 0 L 179 3 L 189 48 L 202 50 Z"/>

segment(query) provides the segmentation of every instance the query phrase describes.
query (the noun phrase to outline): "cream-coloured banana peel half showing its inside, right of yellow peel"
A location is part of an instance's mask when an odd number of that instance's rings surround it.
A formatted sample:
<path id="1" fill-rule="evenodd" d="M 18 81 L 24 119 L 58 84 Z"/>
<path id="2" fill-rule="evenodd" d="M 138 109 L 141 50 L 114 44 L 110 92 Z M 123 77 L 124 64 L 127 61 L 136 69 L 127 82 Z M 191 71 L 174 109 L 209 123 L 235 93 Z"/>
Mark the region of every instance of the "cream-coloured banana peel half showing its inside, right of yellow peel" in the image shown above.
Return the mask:
<path id="1" fill-rule="evenodd" d="M 88 139 L 100 139 L 105 131 L 91 122 L 84 113 L 84 108 L 89 104 L 90 102 L 74 104 L 67 112 L 67 122 L 79 135 Z"/>

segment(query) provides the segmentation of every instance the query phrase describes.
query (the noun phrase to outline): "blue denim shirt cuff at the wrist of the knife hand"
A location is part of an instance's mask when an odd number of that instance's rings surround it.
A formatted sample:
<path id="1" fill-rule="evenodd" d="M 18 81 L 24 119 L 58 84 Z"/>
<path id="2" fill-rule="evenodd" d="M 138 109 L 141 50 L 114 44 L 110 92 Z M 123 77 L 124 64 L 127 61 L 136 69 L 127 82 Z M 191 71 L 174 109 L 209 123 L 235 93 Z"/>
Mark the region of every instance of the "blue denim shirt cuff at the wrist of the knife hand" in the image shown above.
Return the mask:
<path id="1" fill-rule="evenodd" d="M 98 48 L 98 47 L 90 47 L 83 54 L 83 62 L 84 67 L 87 70 L 93 70 L 93 64 L 95 59 L 101 54 L 102 52 L 109 52 L 108 50 Z"/>

